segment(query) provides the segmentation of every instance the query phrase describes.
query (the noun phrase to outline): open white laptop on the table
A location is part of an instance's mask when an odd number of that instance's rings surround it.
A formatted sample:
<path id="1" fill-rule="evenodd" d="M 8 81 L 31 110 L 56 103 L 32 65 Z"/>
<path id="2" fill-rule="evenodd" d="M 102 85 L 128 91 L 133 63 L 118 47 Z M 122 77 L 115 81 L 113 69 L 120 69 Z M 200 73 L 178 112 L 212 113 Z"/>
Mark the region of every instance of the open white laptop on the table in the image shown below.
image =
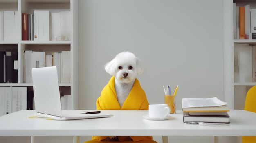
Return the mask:
<path id="1" fill-rule="evenodd" d="M 35 108 L 39 116 L 56 120 L 88 119 L 111 117 L 113 115 L 85 114 L 81 110 L 61 110 L 61 97 L 56 66 L 33 68 L 32 80 Z M 83 113 L 83 114 L 81 114 Z"/>

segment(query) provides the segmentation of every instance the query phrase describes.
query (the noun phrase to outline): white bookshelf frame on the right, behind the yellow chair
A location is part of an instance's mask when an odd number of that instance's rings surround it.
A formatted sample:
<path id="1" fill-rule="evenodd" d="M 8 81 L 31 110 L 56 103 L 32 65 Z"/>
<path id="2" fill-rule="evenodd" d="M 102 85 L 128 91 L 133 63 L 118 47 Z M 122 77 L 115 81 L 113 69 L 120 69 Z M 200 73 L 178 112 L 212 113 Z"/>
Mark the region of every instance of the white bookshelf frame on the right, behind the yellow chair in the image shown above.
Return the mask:
<path id="1" fill-rule="evenodd" d="M 224 83 L 225 101 L 231 109 L 244 109 L 247 91 L 256 85 L 256 82 L 234 82 L 234 44 L 256 45 L 255 39 L 233 38 L 233 3 L 236 6 L 250 4 L 250 9 L 256 9 L 255 0 L 224 0 Z"/>

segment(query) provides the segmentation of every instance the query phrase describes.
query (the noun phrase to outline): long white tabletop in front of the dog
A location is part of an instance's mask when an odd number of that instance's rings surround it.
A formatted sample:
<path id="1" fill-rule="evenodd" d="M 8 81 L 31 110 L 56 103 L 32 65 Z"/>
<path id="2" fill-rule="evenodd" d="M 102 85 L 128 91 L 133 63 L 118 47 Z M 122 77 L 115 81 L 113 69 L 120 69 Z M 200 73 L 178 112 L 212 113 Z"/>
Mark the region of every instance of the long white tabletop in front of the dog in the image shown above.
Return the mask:
<path id="1" fill-rule="evenodd" d="M 0 136 L 256 136 L 256 113 L 231 110 L 230 124 L 202 126 L 183 123 L 183 114 L 152 121 L 142 116 L 148 110 L 102 110 L 114 117 L 70 121 L 28 118 L 34 110 L 0 117 Z"/>

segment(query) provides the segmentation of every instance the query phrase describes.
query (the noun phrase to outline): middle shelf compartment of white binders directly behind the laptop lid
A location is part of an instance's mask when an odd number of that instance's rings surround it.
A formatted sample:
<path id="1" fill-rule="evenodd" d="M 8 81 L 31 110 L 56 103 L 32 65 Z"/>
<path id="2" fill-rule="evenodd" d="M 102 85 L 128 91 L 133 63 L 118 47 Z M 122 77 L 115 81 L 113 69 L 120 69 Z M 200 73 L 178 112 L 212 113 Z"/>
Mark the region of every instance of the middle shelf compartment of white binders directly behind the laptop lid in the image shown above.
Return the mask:
<path id="1" fill-rule="evenodd" d="M 70 44 L 21 44 L 21 83 L 31 83 L 31 68 L 56 66 L 60 83 L 70 83 Z M 24 73 L 23 73 L 24 72 Z"/>

